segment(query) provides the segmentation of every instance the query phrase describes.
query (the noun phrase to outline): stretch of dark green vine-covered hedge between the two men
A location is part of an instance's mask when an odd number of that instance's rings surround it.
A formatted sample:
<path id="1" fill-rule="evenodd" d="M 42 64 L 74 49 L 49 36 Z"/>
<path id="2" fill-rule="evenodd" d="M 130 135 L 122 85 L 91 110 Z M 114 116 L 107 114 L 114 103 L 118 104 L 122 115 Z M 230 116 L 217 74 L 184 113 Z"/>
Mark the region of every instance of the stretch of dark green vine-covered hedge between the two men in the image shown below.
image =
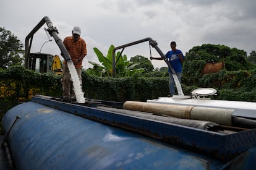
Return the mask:
<path id="1" fill-rule="evenodd" d="M 91 77 L 82 74 L 82 89 L 85 97 L 109 101 L 147 101 L 168 95 L 168 79 L 166 77 Z"/>

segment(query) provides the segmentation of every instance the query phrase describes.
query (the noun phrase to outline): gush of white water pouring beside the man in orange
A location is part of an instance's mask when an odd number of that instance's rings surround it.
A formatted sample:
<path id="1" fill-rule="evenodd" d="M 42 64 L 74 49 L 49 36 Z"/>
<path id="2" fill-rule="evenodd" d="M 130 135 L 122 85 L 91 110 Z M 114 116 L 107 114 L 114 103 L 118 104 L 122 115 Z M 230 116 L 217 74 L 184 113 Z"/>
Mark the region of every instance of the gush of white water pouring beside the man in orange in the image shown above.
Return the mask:
<path id="1" fill-rule="evenodd" d="M 82 85 L 79 80 L 79 76 L 77 75 L 77 70 L 75 70 L 75 66 L 72 60 L 67 61 L 67 67 L 69 67 L 69 73 L 71 80 L 73 82 L 75 98 L 77 99 L 77 103 L 85 103 L 84 93 L 82 91 Z"/>

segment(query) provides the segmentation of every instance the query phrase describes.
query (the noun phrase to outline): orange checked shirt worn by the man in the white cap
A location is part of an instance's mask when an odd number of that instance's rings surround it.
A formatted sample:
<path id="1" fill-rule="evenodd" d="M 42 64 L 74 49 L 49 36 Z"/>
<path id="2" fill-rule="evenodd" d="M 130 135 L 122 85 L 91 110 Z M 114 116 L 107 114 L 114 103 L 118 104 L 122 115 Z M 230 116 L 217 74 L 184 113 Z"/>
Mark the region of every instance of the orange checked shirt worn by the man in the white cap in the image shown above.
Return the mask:
<path id="1" fill-rule="evenodd" d="M 75 68 L 81 68 L 83 57 L 87 55 L 85 40 L 79 38 L 79 40 L 74 41 L 72 36 L 67 36 L 63 43 L 66 46 L 67 51 L 69 51 L 69 55 L 74 62 Z M 77 61 L 78 59 L 80 59 L 79 62 Z M 66 64 L 66 61 L 64 61 L 64 63 Z"/>

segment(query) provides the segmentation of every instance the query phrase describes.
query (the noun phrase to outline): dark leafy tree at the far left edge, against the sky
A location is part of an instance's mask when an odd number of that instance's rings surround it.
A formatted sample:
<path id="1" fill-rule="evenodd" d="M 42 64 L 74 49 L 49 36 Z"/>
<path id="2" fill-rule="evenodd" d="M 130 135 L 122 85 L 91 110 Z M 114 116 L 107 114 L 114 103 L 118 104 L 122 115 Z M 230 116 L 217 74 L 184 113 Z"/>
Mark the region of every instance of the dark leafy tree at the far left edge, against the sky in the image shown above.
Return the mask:
<path id="1" fill-rule="evenodd" d="M 22 48 L 20 40 L 11 31 L 0 27 L 0 68 L 22 64 Z"/>

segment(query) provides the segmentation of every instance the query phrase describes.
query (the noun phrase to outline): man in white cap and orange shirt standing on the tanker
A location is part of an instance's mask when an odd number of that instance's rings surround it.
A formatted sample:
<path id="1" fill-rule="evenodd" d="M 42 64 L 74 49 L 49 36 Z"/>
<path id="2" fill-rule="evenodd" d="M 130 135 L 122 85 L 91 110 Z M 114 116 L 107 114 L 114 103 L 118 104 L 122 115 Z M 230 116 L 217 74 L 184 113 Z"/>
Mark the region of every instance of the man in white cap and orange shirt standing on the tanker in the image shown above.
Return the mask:
<path id="1" fill-rule="evenodd" d="M 72 36 L 67 36 L 63 43 L 69 51 L 70 57 L 74 63 L 77 74 L 79 75 L 80 82 L 82 84 L 82 61 L 83 57 L 87 55 L 87 48 L 85 40 L 80 38 L 81 29 L 80 27 L 74 27 L 72 30 Z M 62 68 L 62 97 L 64 101 L 74 101 L 75 93 L 73 90 L 73 84 L 70 80 L 69 68 L 67 62 L 64 61 Z"/>

